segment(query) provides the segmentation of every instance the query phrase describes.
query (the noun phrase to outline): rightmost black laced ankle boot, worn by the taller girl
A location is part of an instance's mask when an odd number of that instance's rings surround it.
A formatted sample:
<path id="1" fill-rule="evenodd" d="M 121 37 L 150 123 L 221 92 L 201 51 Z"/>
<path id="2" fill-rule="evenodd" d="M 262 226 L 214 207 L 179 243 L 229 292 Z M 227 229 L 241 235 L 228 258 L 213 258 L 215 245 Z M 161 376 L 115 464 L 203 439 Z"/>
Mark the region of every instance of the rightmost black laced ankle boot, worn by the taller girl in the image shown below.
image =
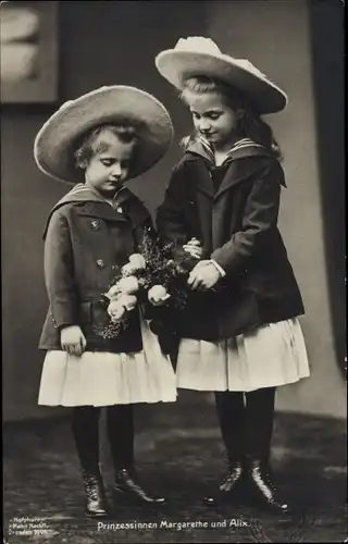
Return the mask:
<path id="1" fill-rule="evenodd" d="M 265 459 L 249 458 L 246 475 L 251 498 L 254 498 L 260 506 L 276 511 L 289 511 L 288 505 L 281 499 L 279 492 L 273 483 L 272 471 Z"/>

